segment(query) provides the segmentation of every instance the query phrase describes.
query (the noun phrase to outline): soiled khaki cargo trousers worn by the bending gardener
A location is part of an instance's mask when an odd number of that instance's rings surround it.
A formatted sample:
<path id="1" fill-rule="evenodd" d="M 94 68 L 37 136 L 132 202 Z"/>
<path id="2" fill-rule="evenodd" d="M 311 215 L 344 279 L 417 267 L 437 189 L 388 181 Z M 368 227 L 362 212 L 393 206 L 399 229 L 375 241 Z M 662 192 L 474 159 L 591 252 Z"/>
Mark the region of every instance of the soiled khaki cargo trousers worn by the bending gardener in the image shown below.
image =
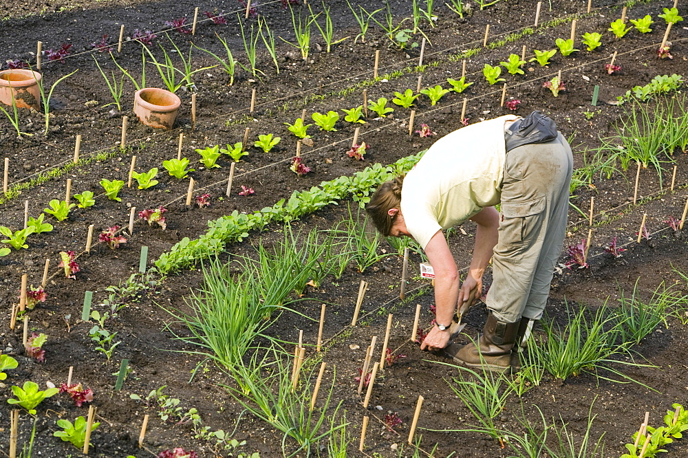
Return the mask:
<path id="1" fill-rule="evenodd" d="M 506 323 L 539 320 L 561 255 L 573 157 L 561 133 L 506 154 L 487 307 Z"/>

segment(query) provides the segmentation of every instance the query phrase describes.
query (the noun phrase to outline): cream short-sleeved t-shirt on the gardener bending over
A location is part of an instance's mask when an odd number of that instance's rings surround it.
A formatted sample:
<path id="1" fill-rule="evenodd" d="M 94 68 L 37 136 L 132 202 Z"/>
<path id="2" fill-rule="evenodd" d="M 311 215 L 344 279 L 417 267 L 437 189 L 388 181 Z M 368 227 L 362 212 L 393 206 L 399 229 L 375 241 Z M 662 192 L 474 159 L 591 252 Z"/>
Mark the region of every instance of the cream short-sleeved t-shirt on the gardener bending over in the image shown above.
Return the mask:
<path id="1" fill-rule="evenodd" d="M 449 133 L 407 173 L 401 212 L 423 249 L 438 230 L 499 204 L 506 160 L 504 123 L 517 118 L 500 116 Z"/>

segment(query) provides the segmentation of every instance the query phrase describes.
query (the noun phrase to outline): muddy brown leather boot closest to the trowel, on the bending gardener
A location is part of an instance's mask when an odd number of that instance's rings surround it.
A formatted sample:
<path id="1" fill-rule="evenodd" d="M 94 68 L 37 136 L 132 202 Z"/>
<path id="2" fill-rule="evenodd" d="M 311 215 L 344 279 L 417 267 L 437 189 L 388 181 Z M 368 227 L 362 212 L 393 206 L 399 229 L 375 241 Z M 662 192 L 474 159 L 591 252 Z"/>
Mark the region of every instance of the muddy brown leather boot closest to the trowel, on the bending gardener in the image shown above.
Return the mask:
<path id="1" fill-rule="evenodd" d="M 481 367 L 488 371 L 504 372 L 511 367 L 511 349 L 516 342 L 520 320 L 504 323 L 490 312 L 483 334 L 468 345 L 452 344 L 445 353 L 466 367 Z"/>

